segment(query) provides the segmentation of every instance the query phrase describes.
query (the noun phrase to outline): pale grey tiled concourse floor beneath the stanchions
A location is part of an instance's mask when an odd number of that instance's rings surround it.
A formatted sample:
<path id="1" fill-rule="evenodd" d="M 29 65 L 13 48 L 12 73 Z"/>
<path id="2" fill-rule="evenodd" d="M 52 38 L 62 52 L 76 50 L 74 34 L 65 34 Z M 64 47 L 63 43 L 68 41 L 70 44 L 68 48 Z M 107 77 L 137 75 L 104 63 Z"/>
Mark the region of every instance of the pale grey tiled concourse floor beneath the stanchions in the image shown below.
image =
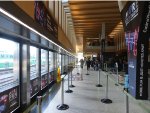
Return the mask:
<path id="1" fill-rule="evenodd" d="M 73 71 L 73 75 L 76 70 Z M 125 95 L 121 88 L 116 87 L 114 82 L 109 78 L 108 97 L 113 101 L 112 104 L 104 104 L 100 100 L 105 98 L 106 73 L 101 72 L 101 84 L 103 87 L 98 88 L 95 85 L 98 80 L 98 71 L 90 71 L 90 75 L 85 75 L 83 70 L 83 81 L 74 79 L 70 88 L 73 93 L 64 93 L 64 103 L 69 105 L 67 110 L 57 110 L 56 106 L 61 103 L 61 90 L 58 90 L 53 99 L 48 101 L 43 108 L 42 113 L 126 113 Z M 67 80 L 67 78 L 66 78 Z M 67 81 L 65 87 L 67 89 Z M 51 94 L 51 93 L 50 93 Z M 143 108 L 129 98 L 129 113 L 147 113 Z"/>

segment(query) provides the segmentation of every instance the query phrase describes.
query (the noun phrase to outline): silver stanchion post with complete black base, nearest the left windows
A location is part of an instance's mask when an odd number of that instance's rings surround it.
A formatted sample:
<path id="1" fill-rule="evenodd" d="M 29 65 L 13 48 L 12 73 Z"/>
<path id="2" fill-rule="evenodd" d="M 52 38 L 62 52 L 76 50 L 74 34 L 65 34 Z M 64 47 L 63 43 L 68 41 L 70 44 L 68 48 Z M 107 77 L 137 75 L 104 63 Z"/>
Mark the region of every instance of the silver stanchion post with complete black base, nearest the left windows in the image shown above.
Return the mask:
<path id="1" fill-rule="evenodd" d="M 61 104 L 57 106 L 58 110 L 66 110 L 69 106 L 67 104 L 64 104 L 64 78 L 62 78 L 61 81 Z"/>

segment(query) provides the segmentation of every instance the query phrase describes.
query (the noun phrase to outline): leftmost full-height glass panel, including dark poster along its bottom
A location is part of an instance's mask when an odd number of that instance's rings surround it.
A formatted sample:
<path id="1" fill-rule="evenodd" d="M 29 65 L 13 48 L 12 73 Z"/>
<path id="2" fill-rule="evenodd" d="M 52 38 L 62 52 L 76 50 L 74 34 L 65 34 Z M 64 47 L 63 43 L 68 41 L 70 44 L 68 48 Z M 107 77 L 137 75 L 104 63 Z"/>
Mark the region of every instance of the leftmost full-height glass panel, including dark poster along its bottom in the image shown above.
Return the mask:
<path id="1" fill-rule="evenodd" d="M 0 38 L 0 112 L 19 106 L 19 44 Z"/>

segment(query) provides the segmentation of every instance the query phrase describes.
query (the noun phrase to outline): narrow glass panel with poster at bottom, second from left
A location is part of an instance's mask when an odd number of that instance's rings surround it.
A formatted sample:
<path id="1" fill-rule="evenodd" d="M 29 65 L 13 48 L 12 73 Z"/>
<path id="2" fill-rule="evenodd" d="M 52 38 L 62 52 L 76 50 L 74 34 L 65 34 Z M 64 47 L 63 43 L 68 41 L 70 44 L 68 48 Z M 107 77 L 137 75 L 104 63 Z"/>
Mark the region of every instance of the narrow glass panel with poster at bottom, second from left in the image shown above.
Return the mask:
<path id="1" fill-rule="evenodd" d="M 38 56 L 38 48 L 30 46 L 30 91 L 31 97 L 34 96 L 38 92 L 38 77 L 39 77 L 39 56 Z"/>

